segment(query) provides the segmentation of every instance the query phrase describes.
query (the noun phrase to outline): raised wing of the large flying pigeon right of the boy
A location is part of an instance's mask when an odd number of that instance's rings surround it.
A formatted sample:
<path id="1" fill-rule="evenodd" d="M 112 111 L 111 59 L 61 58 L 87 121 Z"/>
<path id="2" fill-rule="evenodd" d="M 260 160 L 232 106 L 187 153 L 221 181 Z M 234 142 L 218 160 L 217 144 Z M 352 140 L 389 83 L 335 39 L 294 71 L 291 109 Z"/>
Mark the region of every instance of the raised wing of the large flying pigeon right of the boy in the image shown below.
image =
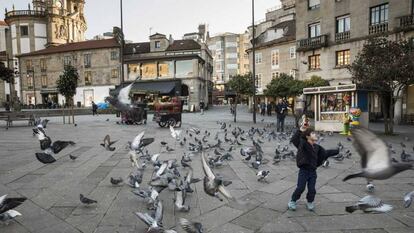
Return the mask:
<path id="1" fill-rule="evenodd" d="M 382 169 L 390 165 L 388 147 L 380 138 L 365 128 L 353 130 L 354 147 L 361 156 L 361 166 L 367 169 Z"/>

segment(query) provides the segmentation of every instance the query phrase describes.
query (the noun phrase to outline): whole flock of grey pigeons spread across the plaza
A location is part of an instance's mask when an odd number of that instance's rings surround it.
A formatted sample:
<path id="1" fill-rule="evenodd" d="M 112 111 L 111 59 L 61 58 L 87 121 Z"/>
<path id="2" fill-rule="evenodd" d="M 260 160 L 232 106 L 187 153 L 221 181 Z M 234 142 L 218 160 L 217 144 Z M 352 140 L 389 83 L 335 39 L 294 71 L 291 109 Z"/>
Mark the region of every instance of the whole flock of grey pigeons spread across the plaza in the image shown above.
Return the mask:
<path id="1" fill-rule="evenodd" d="M 40 142 L 39 153 L 36 158 L 44 163 L 49 164 L 56 161 L 54 155 L 58 154 L 64 148 L 75 145 L 73 141 L 54 141 L 46 134 L 47 120 L 36 121 L 36 127 L 33 129 L 33 135 L 37 136 Z M 202 181 L 204 192 L 212 198 L 220 201 L 237 201 L 235 197 L 226 189 L 231 185 L 230 180 L 226 180 L 213 171 L 220 169 L 226 165 L 226 161 L 234 159 L 234 154 L 240 153 L 242 161 L 244 161 L 252 170 L 255 171 L 258 182 L 268 182 L 267 178 L 270 174 L 269 170 L 261 169 L 263 165 L 272 161 L 273 165 L 280 164 L 284 160 L 294 161 L 296 152 L 290 144 L 290 138 L 293 135 L 291 128 L 287 132 L 275 132 L 274 125 L 268 124 L 263 128 L 251 127 L 243 129 L 236 125 L 226 122 L 217 122 L 219 131 L 213 134 L 208 130 L 201 130 L 190 127 L 185 130 L 176 130 L 170 127 L 171 137 L 174 139 L 174 145 L 161 141 L 160 146 L 165 148 L 166 153 L 175 153 L 175 148 L 180 146 L 184 148 L 184 154 L 180 159 L 161 160 L 160 153 L 151 154 L 146 148 L 155 141 L 154 138 L 145 138 L 145 132 L 139 133 L 128 142 L 126 148 L 131 161 L 133 171 L 128 174 L 124 180 L 122 177 L 111 177 L 112 185 L 127 184 L 131 187 L 132 195 L 136 195 L 140 200 L 145 202 L 148 211 L 136 212 L 136 216 L 148 226 L 147 232 L 152 233 L 173 233 L 173 229 L 167 229 L 163 225 L 163 200 L 160 193 L 168 190 L 173 193 L 175 211 L 188 212 L 190 205 L 186 202 L 188 195 L 194 192 L 193 184 Z M 318 143 L 323 142 L 325 137 L 333 136 L 332 132 L 319 133 Z M 374 135 L 367 129 L 353 129 L 353 138 L 347 138 L 353 141 L 356 151 L 361 156 L 361 172 L 346 176 L 343 180 L 363 177 L 367 179 L 367 189 L 373 192 L 375 180 L 388 179 L 395 174 L 413 169 L 413 158 L 408 154 L 406 145 L 401 143 L 404 150 L 401 154 L 401 161 L 398 162 L 392 154 L 395 151 L 391 145 L 387 145 L 384 141 Z M 406 138 L 406 141 L 409 141 Z M 109 135 L 106 135 L 100 144 L 107 151 L 115 151 L 114 144 L 117 140 L 112 141 Z M 268 155 L 263 152 L 262 145 L 266 142 L 275 144 L 275 152 Z M 239 149 L 236 149 L 239 148 Z M 331 156 L 329 159 L 335 161 L 343 161 L 350 159 L 352 153 L 344 148 L 341 142 L 338 143 L 337 149 L 339 153 Z M 413 148 L 414 149 L 414 148 Z M 71 160 L 77 157 L 69 155 Z M 195 178 L 194 171 L 191 166 L 195 157 L 200 157 L 201 165 L 204 172 L 203 178 Z M 323 162 L 323 167 L 328 168 L 329 159 Z M 150 168 L 152 168 L 150 170 Z M 143 174 L 146 170 L 150 170 L 151 179 L 148 185 L 142 184 Z M 185 174 L 185 175 L 183 175 Z M 164 191 L 165 192 L 165 191 Z M 414 196 L 414 191 L 404 196 L 404 206 L 408 208 Z M 83 194 L 79 195 L 80 202 L 84 205 L 96 205 L 96 200 L 90 199 Z M 6 195 L 0 197 L 0 221 L 7 222 L 21 215 L 15 207 L 22 204 L 26 198 L 7 198 Z M 388 212 L 392 210 L 392 206 L 385 204 L 378 197 L 368 195 L 362 198 L 358 203 L 347 206 L 345 210 L 352 213 L 356 210 L 364 212 Z M 203 232 L 203 226 L 199 222 L 193 222 L 185 218 L 179 219 L 179 225 L 188 233 Z"/>

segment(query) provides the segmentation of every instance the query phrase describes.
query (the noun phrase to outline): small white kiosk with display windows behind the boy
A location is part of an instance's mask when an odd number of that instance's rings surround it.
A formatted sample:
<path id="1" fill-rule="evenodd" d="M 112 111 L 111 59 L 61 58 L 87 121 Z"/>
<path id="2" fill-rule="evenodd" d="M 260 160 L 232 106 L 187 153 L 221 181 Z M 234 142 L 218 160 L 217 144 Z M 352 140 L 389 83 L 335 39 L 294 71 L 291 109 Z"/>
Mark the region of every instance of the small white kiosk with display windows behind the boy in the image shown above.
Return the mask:
<path id="1" fill-rule="evenodd" d="M 343 131 L 348 118 L 368 127 L 368 92 L 357 90 L 355 84 L 304 88 L 303 94 L 314 97 L 315 130 Z"/>

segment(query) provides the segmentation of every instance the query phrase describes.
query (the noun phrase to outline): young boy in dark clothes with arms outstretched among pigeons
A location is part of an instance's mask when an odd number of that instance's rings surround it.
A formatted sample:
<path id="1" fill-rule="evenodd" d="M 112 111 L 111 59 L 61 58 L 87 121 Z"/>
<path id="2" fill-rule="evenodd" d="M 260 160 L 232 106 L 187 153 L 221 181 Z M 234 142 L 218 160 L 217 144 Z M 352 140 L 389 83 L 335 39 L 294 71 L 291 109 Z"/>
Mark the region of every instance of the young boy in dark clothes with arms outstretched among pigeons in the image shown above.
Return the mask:
<path id="1" fill-rule="evenodd" d="M 299 174 L 296 190 L 288 203 L 289 210 L 296 210 L 296 201 L 300 199 L 306 185 L 308 186 L 308 193 L 306 195 L 308 203 L 306 207 L 309 211 L 315 209 L 313 201 L 316 195 L 316 168 L 322 165 L 323 161 L 328 157 L 339 153 L 338 150 L 329 150 L 327 153 L 322 146 L 316 144 L 317 141 L 318 137 L 314 130 L 309 127 L 309 124 L 303 123 L 291 139 L 293 145 L 298 149 L 296 165 L 299 168 Z"/>

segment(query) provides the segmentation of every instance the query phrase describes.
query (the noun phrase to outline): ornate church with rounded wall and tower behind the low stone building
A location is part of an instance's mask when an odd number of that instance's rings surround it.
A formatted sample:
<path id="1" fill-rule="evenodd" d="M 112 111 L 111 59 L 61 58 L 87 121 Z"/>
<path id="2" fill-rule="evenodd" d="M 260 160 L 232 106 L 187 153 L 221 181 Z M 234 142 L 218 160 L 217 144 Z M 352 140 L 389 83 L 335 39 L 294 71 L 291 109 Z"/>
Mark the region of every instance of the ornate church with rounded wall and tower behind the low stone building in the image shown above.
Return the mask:
<path id="1" fill-rule="evenodd" d="M 9 67 L 16 72 L 20 97 L 20 67 L 17 57 L 66 43 L 83 41 L 86 31 L 84 0 L 32 0 L 25 10 L 6 9 L 6 50 Z"/>

